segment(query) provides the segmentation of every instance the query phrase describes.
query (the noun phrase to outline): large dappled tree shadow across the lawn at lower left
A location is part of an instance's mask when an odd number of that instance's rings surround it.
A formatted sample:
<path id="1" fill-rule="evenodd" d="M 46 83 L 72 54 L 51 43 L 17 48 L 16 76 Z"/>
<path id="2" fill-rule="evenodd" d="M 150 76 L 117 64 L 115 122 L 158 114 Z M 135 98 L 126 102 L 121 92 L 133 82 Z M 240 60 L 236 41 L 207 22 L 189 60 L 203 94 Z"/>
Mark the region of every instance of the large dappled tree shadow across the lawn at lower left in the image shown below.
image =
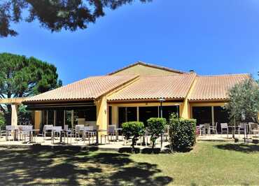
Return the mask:
<path id="1" fill-rule="evenodd" d="M 97 148 L 0 148 L 1 185 L 167 185 L 156 164 Z"/>

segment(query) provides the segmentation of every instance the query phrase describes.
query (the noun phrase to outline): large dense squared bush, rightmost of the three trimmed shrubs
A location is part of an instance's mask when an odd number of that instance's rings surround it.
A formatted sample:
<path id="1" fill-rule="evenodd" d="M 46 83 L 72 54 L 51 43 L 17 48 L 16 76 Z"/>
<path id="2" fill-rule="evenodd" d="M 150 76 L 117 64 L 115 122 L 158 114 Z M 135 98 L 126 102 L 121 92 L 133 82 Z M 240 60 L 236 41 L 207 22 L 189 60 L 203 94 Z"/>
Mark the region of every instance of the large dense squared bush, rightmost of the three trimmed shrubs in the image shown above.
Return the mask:
<path id="1" fill-rule="evenodd" d="M 176 150 L 193 147 L 196 141 L 196 120 L 178 118 L 172 115 L 169 119 L 170 144 Z"/>

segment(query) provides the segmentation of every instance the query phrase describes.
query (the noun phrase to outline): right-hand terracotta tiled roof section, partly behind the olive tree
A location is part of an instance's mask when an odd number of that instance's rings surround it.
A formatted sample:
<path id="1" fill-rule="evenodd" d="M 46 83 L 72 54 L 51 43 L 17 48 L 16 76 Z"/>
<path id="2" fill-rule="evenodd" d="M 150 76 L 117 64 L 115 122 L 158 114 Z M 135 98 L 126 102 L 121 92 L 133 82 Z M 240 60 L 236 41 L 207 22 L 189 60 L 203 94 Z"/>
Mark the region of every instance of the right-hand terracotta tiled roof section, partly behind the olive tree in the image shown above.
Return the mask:
<path id="1" fill-rule="evenodd" d="M 235 84 L 244 81 L 249 74 L 232 74 L 221 76 L 197 76 L 190 100 L 224 100 L 228 99 L 228 90 Z"/>

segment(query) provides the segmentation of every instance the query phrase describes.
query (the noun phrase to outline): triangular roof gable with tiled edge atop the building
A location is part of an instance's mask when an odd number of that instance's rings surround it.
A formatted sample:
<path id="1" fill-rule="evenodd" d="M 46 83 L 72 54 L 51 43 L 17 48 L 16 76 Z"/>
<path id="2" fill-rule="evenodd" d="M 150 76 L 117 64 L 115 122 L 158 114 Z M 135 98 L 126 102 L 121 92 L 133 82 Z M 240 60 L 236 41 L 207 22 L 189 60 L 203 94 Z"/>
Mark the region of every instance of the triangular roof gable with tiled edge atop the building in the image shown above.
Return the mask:
<path id="1" fill-rule="evenodd" d="M 109 73 L 109 75 L 141 75 L 141 76 L 170 76 L 183 74 L 184 72 L 170 69 L 155 64 L 147 64 L 144 62 L 136 62 L 125 66 L 122 69 Z"/>

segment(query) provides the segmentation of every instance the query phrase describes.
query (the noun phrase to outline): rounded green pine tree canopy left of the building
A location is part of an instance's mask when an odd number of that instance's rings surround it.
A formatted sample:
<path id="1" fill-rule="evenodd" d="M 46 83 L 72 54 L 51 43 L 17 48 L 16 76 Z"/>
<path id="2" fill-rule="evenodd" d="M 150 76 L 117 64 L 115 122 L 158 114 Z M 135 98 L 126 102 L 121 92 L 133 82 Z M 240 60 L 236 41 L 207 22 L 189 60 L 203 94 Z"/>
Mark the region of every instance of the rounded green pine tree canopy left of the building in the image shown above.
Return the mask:
<path id="1" fill-rule="evenodd" d="M 34 57 L 0 53 L 0 99 L 33 96 L 61 85 L 54 65 Z M 10 111 L 8 106 L 0 108 L 3 113 Z"/>

